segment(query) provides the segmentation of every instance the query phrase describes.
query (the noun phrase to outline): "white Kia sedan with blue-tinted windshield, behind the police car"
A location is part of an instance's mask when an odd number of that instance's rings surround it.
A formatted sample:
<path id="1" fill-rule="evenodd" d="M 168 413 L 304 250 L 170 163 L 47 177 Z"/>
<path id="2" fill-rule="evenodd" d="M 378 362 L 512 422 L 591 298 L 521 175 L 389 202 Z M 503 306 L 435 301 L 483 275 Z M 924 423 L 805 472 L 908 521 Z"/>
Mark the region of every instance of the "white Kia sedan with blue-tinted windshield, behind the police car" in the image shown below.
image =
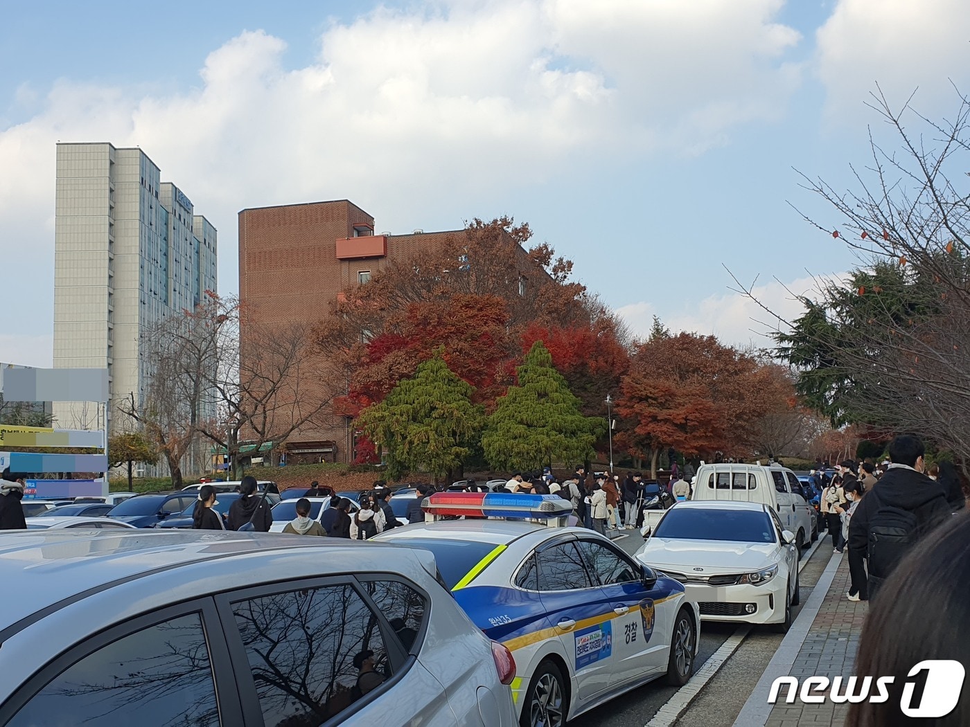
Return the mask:
<path id="1" fill-rule="evenodd" d="M 709 621 L 792 625 L 798 604 L 794 534 L 754 502 L 679 502 L 636 557 L 684 585 Z"/>

